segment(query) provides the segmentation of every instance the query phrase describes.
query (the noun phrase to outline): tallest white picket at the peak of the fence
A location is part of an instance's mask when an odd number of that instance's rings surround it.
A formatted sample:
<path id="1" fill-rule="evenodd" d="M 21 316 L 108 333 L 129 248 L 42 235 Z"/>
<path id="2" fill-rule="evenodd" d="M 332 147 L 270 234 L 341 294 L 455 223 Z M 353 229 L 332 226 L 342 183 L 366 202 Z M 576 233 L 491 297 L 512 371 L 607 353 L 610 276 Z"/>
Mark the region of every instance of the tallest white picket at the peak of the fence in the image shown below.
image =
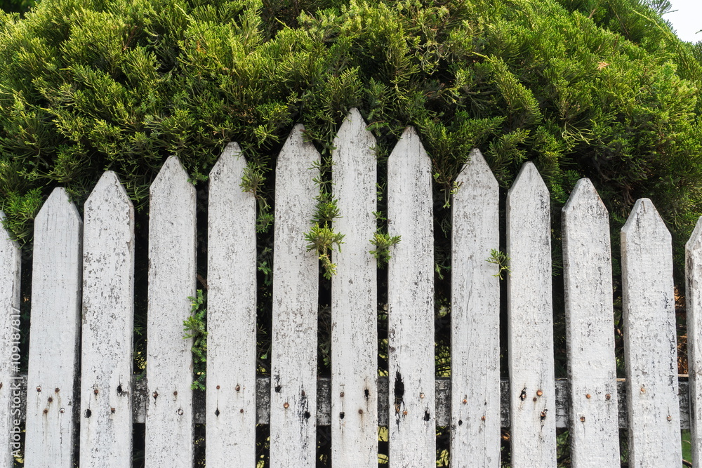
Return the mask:
<path id="1" fill-rule="evenodd" d="M 376 139 L 351 109 L 333 145 L 334 229 L 345 237 L 331 279 L 331 458 L 335 468 L 377 467 Z"/>

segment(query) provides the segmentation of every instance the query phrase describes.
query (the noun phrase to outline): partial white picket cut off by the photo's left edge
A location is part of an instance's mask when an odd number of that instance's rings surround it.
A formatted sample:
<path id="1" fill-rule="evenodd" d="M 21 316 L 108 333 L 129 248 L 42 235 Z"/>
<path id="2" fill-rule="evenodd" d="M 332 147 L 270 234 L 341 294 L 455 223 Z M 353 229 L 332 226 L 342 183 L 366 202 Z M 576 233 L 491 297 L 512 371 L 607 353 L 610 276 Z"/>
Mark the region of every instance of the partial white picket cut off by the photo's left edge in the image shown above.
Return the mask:
<path id="1" fill-rule="evenodd" d="M 0 211 L 0 222 L 5 213 Z M 20 406 L 17 400 L 21 377 L 18 376 L 20 360 L 20 248 L 4 227 L 0 225 L 0 468 L 13 466 L 13 450 L 21 448 L 13 436 L 20 433 Z M 14 357 L 13 357 L 14 356 Z M 16 427 L 16 429 L 15 429 Z"/>

